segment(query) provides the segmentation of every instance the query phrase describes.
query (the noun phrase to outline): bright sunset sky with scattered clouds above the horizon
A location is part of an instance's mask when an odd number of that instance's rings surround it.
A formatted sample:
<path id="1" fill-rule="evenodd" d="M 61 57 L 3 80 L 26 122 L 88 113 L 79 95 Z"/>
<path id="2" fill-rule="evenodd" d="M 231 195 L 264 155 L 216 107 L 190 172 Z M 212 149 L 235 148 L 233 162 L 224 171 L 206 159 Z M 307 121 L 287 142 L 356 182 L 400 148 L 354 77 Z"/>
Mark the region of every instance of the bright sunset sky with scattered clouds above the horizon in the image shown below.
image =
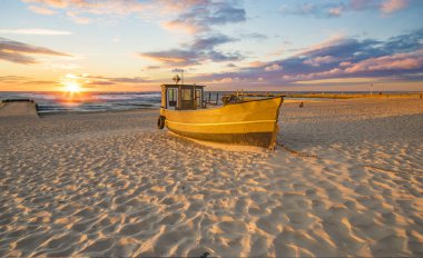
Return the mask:
<path id="1" fill-rule="evenodd" d="M 0 91 L 423 91 L 422 0 L 1 0 Z"/>

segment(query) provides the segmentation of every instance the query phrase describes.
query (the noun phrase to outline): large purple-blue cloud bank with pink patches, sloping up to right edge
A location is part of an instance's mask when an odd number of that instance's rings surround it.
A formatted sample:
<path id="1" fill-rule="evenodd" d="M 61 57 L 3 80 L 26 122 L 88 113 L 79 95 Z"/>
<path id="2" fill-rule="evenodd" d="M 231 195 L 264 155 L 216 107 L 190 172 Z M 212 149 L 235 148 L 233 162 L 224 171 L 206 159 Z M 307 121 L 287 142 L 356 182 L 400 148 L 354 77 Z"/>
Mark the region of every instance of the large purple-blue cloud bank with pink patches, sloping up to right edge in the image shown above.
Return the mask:
<path id="1" fill-rule="evenodd" d="M 195 80 L 217 83 L 225 78 L 239 78 L 243 87 L 247 87 L 263 78 L 262 82 L 268 86 L 294 86 L 298 81 L 340 78 L 415 80 L 419 75 L 423 75 L 423 29 L 385 41 L 336 37 L 285 59 L 256 61 L 235 71 L 201 75 Z"/>

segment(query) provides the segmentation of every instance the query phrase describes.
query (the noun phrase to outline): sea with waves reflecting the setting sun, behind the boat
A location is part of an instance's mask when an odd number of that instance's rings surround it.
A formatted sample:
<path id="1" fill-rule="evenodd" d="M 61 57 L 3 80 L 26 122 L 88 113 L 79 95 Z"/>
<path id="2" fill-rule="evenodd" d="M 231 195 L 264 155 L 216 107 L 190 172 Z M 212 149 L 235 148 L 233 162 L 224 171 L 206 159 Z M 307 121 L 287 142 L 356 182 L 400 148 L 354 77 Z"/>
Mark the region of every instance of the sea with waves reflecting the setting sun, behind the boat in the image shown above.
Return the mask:
<path id="1" fill-rule="evenodd" d="M 204 98 L 212 103 L 222 105 L 222 97 L 232 91 L 207 91 Z M 269 93 L 284 93 L 269 91 Z M 286 93 L 286 92 L 285 92 Z M 307 93 L 293 92 L 289 93 Z M 331 93 L 341 93 L 331 91 Z M 351 93 L 351 92 L 350 92 Z M 361 92 L 355 92 L 361 93 Z M 366 92 L 368 93 L 368 92 Z M 160 91 L 140 92 L 7 92 L 0 91 L 0 100 L 31 99 L 38 103 L 39 115 L 61 112 L 99 112 L 134 109 L 160 108 Z"/>

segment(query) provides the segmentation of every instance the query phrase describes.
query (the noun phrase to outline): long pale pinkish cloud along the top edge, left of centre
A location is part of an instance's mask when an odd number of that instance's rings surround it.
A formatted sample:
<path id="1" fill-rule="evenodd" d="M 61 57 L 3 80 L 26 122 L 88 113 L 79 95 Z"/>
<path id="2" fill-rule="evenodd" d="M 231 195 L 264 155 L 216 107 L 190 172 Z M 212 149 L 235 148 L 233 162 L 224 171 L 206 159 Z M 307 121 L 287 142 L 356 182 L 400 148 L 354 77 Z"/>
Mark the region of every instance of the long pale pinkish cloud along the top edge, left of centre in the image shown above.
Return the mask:
<path id="1" fill-rule="evenodd" d="M 214 26 L 243 22 L 246 12 L 238 0 L 22 0 L 41 14 L 65 12 L 78 23 L 89 23 L 90 16 L 111 18 L 138 14 L 157 20 L 169 30 L 190 33 L 209 31 Z M 166 17 L 166 18 L 164 18 Z"/>

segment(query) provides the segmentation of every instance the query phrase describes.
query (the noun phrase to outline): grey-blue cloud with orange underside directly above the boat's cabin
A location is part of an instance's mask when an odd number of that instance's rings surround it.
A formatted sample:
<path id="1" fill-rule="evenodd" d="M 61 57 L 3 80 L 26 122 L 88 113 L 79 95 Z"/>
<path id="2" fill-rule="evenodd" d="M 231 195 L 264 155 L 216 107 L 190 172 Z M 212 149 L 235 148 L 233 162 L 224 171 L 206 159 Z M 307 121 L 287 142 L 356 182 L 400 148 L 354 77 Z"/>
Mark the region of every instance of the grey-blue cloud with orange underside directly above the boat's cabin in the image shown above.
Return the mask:
<path id="1" fill-rule="evenodd" d="M 224 34 L 209 37 L 197 37 L 183 49 L 170 49 L 165 51 L 142 52 L 140 57 L 153 59 L 168 67 L 171 66 L 195 66 L 205 61 L 238 61 L 243 56 L 237 52 L 223 52 L 216 50 L 217 46 L 234 42 L 237 39 Z"/>

